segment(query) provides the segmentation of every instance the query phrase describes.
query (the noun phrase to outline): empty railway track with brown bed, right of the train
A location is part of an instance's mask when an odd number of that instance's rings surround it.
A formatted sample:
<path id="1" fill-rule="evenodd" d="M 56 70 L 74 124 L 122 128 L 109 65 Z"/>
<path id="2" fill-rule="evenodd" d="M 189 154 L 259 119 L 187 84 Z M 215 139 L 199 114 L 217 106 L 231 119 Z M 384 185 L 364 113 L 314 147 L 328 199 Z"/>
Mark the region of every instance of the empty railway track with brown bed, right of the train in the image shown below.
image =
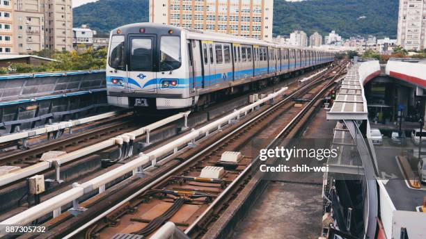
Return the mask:
<path id="1" fill-rule="evenodd" d="M 343 65 L 317 76 L 277 104 L 262 107 L 257 114 L 200 140 L 197 147 L 164 159 L 161 167 L 142 178 L 132 177 L 85 201 L 81 204 L 88 208 L 85 213 L 77 217 L 63 213 L 50 220 L 45 224 L 49 232 L 38 238 L 111 238 L 123 232 L 150 236 L 166 221 L 175 222 L 191 238 L 202 238 L 256 172 L 254 139 L 273 138 L 273 142 L 264 140 L 257 145 L 265 148 L 297 131 L 343 74 Z M 294 101 L 300 99 L 301 107 L 295 108 Z M 239 152 L 242 158 L 236 163 L 223 162 L 220 159 L 226 151 Z M 200 178 L 209 166 L 223 167 L 220 179 Z"/>

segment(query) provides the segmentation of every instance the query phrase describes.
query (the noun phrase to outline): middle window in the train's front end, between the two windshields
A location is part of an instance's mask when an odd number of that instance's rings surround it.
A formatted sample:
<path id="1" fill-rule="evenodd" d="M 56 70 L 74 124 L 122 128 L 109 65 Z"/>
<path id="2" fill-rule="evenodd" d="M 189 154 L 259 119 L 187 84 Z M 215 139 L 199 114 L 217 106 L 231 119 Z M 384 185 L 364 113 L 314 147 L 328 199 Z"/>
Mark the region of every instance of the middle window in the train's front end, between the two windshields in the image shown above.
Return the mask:
<path id="1" fill-rule="evenodd" d="M 132 71 L 152 71 L 152 40 L 151 38 L 132 39 Z"/>

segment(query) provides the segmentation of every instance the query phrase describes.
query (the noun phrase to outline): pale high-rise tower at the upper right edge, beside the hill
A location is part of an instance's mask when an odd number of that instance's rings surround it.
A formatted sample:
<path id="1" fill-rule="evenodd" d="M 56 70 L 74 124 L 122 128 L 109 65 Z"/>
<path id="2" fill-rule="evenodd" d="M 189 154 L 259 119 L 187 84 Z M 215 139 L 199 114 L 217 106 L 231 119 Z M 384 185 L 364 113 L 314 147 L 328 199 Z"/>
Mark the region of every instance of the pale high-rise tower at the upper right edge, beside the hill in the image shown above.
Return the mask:
<path id="1" fill-rule="evenodd" d="M 397 44 L 407 50 L 426 48 L 426 0 L 400 0 Z"/>

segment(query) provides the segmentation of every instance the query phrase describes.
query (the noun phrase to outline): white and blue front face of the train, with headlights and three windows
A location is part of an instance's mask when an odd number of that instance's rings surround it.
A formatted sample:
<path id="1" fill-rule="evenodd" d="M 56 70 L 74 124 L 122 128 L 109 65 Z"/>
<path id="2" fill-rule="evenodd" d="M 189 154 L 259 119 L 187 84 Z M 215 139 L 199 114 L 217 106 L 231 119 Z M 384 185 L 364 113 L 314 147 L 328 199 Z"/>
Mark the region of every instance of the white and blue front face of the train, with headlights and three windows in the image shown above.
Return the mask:
<path id="1" fill-rule="evenodd" d="M 129 24 L 111 32 L 107 63 L 108 102 L 122 108 L 168 110 L 194 104 L 182 30 Z"/>

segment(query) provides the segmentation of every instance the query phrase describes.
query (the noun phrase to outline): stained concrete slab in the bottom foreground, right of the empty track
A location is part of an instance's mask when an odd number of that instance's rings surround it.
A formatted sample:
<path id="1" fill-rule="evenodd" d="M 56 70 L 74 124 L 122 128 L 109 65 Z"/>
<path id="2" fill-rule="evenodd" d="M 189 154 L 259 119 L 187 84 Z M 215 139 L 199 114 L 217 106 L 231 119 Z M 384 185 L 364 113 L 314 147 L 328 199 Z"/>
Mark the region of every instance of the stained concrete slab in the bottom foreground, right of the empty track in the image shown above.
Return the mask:
<path id="1" fill-rule="evenodd" d="M 271 183 L 235 239 L 317 239 L 321 232 L 322 186 Z"/>

